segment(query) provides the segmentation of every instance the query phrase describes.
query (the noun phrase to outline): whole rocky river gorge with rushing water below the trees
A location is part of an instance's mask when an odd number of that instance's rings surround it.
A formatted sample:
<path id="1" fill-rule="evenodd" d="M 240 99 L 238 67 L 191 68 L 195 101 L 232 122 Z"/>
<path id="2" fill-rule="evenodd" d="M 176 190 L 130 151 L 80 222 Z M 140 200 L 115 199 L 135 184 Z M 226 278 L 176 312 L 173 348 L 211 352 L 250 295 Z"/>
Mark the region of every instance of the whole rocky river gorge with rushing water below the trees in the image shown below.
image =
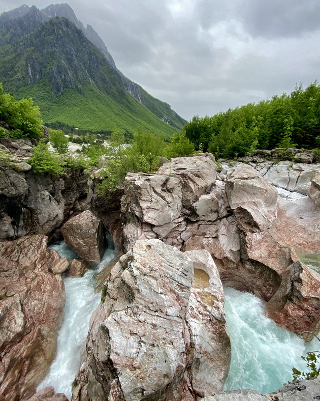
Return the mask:
<path id="1" fill-rule="evenodd" d="M 2 399 L 320 394 L 278 391 L 318 348 L 319 164 L 175 158 L 129 173 L 120 205 L 99 171 L 17 157 L 0 177 Z"/>

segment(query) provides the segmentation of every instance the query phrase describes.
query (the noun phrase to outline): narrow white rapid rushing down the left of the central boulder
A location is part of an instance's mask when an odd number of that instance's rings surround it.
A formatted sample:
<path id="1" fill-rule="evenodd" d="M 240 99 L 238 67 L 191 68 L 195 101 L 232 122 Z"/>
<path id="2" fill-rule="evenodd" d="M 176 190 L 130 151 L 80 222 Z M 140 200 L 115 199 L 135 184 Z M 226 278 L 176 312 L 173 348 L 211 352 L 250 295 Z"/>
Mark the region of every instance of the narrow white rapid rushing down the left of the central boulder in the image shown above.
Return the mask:
<path id="1" fill-rule="evenodd" d="M 79 259 L 63 241 L 50 248 L 55 249 L 61 257 L 67 257 L 69 260 Z M 72 383 L 80 369 L 81 357 L 85 353 L 90 317 L 101 300 L 101 294 L 94 293 L 94 276 L 114 256 L 113 242 L 109 237 L 108 249 L 94 270 L 89 270 L 81 278 L 63 278 L 66 289 L 65 319 L 58 333 L 56 357 L 50 366 L 48 376 L 38 386 L 38 391 L 53 386 L 55 392 L 64 393 L 69 399 L 71 398 Z"/>

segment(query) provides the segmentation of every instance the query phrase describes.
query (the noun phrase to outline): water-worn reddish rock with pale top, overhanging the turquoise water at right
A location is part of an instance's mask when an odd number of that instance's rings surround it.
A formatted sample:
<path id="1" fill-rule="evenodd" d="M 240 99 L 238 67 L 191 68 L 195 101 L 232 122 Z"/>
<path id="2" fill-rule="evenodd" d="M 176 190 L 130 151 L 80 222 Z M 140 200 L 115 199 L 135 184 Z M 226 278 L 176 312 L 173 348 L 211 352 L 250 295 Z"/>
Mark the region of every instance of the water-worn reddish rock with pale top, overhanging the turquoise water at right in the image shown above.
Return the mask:
<path id="1" fill-rule="evenodd" d="M 307 197 L 296 202 L 280 198 L 276 205 L 277 192 L 271 195 L 263 192 L 263 196 L 259 196 L 261 187 L 266 188 L 265 191 L 267 188 L 269 192 L 275 191 L 262 177 L 257 180 L 252 167 L 237 164 L 228 171 L 226 191 L 240 230 L 242 281 L 244 285 L 250 283 L 251 291 L 268 301 L 267 314 L 277 324 L 298 334 L 305 330 L 317 333 L 320 329 L 320 276 L 296 262 L 295 247 L 319 249 L 320 234 L 316 226 L 320 211 Z M 246 216 L 239 216 L 237 207 L 249 210 L 250 218 L 245 223 Z M 266 219 L 266 216 L 271 218 Z M 312 338 L 311 335 L 304 337 Z"/>

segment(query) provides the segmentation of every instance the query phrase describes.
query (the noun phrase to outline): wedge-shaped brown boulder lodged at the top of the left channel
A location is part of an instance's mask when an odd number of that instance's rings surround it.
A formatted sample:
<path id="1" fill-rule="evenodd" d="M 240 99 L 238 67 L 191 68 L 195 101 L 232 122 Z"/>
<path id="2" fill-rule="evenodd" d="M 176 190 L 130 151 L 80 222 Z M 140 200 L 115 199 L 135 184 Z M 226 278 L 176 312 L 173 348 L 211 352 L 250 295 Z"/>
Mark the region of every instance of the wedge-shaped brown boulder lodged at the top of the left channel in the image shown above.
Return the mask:
<path id="1" fill-rule="evenodd" d="M 86 210 L 61 228 L 65 242 L 89 263 L 100 263 L 106 247 L 105 228 L 100 219 Z"/>

